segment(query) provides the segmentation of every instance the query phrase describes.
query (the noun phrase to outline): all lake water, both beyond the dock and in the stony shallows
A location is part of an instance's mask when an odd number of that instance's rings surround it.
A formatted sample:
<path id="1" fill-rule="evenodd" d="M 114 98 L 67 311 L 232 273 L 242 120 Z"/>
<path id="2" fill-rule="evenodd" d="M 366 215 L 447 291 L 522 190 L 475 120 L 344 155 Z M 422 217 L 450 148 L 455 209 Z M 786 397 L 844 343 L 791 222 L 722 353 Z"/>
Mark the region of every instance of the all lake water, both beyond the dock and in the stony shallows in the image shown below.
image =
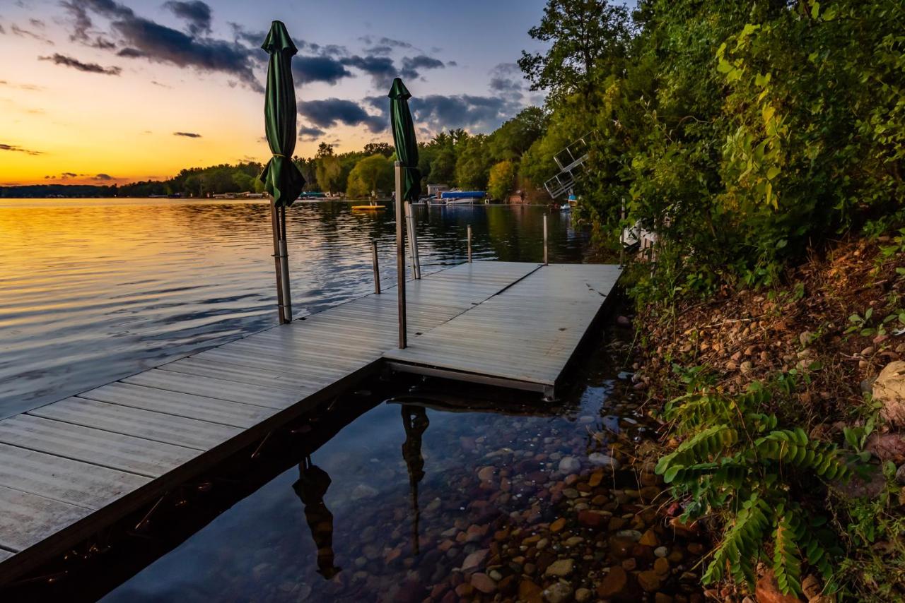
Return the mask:
<path id="1" fill-rule="evenodd" d="M 538 261 L 545 211 L 417 207 L 424 269 L 465 258 L 468 224 L 475 259 Z M 372 239 L 393 284 L 390 212 L 298 203 L 288 222 L 296 313 L 372 290 Z M 567 214 L 549 226 L 551 261 L 581 261 Z M 0 200 L 0 228 L 0 412 L 275 321 L 263 203 Z M 372 378 L 4 600 L 702 603 L 704 546 L 637 459 L 656 425 L 621 372 L 631 331 L 596 335 L 556 402 Z"/>

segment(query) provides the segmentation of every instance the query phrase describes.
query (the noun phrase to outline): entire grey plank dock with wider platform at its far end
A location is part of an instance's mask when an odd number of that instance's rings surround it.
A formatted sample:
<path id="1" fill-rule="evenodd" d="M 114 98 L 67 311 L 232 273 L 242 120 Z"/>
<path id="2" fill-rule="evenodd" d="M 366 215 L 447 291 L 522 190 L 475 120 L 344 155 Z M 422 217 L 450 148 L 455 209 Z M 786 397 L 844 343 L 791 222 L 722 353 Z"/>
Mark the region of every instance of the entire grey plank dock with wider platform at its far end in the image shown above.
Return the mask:
<path id="1" fill-rule="evenodd" d="M 553 395 L 612 265 L 475 262 L 0 420 L 0 585 L 385 363 Z"/>

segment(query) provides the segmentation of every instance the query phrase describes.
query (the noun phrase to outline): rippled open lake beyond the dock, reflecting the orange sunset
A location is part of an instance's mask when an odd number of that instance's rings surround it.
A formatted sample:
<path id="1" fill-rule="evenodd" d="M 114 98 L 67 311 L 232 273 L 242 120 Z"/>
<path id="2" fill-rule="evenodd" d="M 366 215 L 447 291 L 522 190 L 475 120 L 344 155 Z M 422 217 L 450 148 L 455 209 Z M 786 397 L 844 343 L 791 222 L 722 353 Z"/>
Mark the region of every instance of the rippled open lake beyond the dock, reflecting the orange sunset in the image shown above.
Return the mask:
<path id="1" fill-rule="evenodd" d="M 390 204 L 387 203 L 389 206 Z M 296 315 L 395 282 L 395 215 L 351 203 L 288 212 Z M 424 270 L 539 261 L 538 206 L 415 206 Z M 584 236 L 549 216 L 551 261 Z M 0 199 L 0 418 L 97 387 L 276 321 L 270 211 L 261 202 Z"/>

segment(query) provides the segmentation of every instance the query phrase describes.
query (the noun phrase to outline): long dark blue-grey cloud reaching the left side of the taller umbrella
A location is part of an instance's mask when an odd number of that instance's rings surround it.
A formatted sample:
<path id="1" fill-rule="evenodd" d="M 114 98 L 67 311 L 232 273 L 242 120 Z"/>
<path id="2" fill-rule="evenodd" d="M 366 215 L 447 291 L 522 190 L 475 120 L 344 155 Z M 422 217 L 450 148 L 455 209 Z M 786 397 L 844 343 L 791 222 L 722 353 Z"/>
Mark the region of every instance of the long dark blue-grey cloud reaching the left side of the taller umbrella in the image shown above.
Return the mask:
<path id="1" fill-rule="evenodd" d="M 252 90 L 262 90 L 252 69 L 256 64 L 252 58 L 254 56 L 252 49 L 237 41 L 229 42 L 195 35 L 199 33 L 197 27 L 205 24 L 205 17 L 201 15 L 204 8 L 199 10 L 197 6 L 204 3 L 177 2 L 167 5 L 171 10 L 178 6 L 176 10 L 186 8 L 186 11 L 193 14 L 194 20 L 190 21 L 190 25 L 195 27 L 195 33 L 183 33 L 166 25 L 157 24 L 138 16 L 129 6 L 121 5 L 114 0 L 68 0 L 62 5 L 71 15 L 73 40 L 89 42 L 90 28 L 93 26 L 91 16 L 99 14 L 111 20 L 112 32 L 119 36 L 125 46 L 119 51 L 119 56 L 144 58 L 148 61 L 191 67 L 200 71 L 221 71 L 235 76 Z M 185 14 L 186 11 L 180 16 L 189 19 Z M 209 18 L 206 23 L 209 24 Z"/>

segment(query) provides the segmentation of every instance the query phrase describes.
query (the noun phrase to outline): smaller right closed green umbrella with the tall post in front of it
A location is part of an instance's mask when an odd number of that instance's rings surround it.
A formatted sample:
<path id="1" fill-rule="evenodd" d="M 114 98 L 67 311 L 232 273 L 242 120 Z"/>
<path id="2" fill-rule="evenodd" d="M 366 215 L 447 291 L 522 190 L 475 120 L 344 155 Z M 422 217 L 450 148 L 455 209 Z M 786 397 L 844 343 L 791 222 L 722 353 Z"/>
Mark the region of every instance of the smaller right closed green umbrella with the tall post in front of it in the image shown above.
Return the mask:
<path id="1" fill-rule="evenodd" d="M 395 145 L 395 202 L 396 202 L 396 279 L 399 299 L 399 347 L 405 348 L 405 241 L 403 240 L 403 203 L 417 201 L 421 193 L 421 173 L 418 171 L 418 141 L 414 139 L 412 111 L 408 108 L 411 93 L 402 80 L 393 80 L 387 95 L 390 98 L 390 122 Z"/>

